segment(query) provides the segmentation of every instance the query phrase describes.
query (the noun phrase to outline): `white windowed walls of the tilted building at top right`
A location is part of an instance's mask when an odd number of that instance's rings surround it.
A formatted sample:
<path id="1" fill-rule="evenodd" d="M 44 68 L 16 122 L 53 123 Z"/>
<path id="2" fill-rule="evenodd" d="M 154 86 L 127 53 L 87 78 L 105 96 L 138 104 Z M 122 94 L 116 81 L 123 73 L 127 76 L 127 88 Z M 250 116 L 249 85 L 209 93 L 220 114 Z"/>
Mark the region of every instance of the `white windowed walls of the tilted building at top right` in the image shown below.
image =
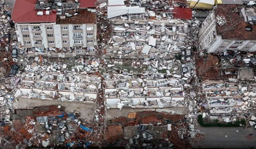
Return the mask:
<path id="1" fill-rule="evenodd" d="M 217 35 L 214 11 L 202 22 L 198 37 L 201 49 L 209 53 L 225 50 L 256 51 L 255 40 L 222 39 L 221 35 Z"/>

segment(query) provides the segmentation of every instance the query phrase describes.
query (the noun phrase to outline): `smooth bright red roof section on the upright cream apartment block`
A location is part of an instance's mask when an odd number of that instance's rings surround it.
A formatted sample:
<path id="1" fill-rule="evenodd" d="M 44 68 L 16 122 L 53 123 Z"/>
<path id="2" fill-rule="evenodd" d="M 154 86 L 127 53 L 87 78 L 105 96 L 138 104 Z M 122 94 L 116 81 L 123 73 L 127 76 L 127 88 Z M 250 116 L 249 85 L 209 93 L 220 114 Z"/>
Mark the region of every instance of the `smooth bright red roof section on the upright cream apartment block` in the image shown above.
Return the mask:
<path id="1" fill-rule="evenodd" d="M 38 16 L 36 8 L 36 2 L 38 0 L 16 0 L 12 18 L 15 23 L 34 23 L 34 22 L 56 22 L 56 13 L 50 15 Z"/>

